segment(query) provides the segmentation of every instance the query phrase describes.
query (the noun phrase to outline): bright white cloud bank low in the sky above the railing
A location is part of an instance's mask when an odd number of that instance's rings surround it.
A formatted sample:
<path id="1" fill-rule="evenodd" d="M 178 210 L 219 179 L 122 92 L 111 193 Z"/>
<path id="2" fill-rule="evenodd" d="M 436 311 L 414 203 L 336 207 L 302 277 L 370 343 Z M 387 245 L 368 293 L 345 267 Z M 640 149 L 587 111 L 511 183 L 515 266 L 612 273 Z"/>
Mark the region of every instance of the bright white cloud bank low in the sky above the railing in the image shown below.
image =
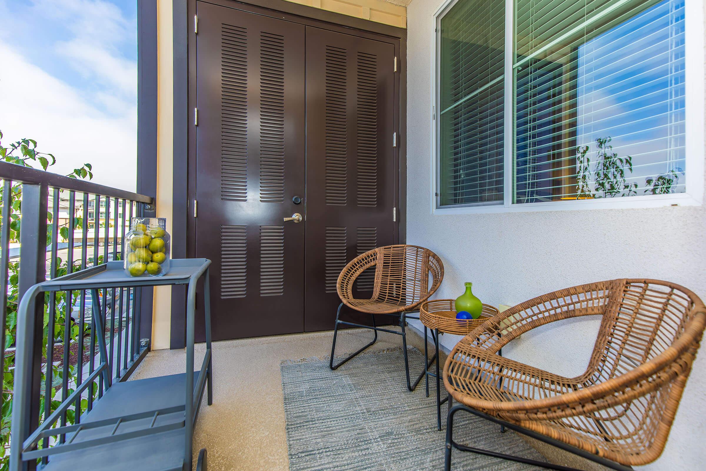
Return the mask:
<path id="1" fill-rule="evenodd" d="M 89 162 L 93 181 L 135 190 L 137 107 L 104 112 L 91 97 L 30 64 L 0 42 L 0 130 L 4 142 L 37 140 L 54 154 L 52 170 L 68 174 Z M 113 109 L 119 108 L 114 105 Z"/>

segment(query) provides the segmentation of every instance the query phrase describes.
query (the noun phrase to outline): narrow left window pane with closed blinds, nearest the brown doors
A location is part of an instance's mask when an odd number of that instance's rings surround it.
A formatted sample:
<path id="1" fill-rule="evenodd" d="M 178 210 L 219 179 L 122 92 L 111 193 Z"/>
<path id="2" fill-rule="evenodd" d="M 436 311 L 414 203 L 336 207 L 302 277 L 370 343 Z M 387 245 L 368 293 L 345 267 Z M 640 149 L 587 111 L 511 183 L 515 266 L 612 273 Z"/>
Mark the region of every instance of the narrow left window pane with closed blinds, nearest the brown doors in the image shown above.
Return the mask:
<path id="1" fill-rule="evenodd" d="M 438 28 L 438 203 L 502 203 L 505 0 L 459 1 Z"/>

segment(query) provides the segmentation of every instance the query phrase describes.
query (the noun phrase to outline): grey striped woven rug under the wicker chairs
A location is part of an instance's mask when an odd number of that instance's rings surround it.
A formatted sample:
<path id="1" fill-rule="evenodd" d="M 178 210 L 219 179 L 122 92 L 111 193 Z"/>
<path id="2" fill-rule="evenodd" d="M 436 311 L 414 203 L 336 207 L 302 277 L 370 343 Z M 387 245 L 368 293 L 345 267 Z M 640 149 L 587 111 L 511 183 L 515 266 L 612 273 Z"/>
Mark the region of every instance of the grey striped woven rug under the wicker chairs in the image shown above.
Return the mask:
<path id="1" fill-rule="evenodd" d="M 412 347 L 409 360 L 419 374 L 424 356 Z M 446 406 L 437 431 L 436 382 L 430 378 L 429 398 L 424 379 L 410 393 L 401 349 L 360 354 L 336 371 L 325 358 L 286 360 L 281 371 L 290 471 L 443 470 Z M 501 434 L 498 425 L 464 412 L 455 417 L 454 440 L 543 460 L 515 432 Z M 454 450 L 452 469 L 539 468 Z"/>

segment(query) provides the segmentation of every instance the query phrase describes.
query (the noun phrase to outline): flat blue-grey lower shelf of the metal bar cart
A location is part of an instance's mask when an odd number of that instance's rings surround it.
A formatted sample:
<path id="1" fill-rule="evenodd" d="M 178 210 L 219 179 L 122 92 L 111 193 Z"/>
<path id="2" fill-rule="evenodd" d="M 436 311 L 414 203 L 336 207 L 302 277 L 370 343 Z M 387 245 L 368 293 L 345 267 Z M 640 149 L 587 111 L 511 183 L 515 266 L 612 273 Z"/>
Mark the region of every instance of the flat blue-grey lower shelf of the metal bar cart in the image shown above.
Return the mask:
<path id="1" fill-rule="evenodd" d="M 198 383 L 198 371 L 194 371 L 193 383 Z M 95 422 L 111 417 L 184 406 L 185 390 L 186 374 L 184 373 L 114 383 L 81 422 Z M 200 391 L 196 392 L 196 397 L 199 393 Z M 160 415 L 157 417 L 155 426 L 183 420 L 182 410 Z M 150 422 L 152 417 L 126 422 L 121 424 L 120 431 L 149 427 Z M 86 429 L 76 436 L 74 443 L 107 436 L 112 430 L 112 426 Z M 181 471 L 184 465 L 184 440 L 184 427 L 181 427 L 158 434 L 57 453 L 49 458 L 49 463 L 42 469 L 46 471 Z"/>

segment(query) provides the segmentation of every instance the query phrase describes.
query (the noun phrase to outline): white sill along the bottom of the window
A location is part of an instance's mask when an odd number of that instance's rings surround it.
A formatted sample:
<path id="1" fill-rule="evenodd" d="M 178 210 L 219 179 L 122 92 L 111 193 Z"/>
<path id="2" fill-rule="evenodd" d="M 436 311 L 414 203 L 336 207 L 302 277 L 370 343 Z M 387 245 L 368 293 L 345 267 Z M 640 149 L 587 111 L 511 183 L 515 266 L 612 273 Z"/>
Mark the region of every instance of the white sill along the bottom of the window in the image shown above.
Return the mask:
<path id="1" fill-rule="evenodd" d="M 513 205 L 455 206 L 433 208 L 433 215 L 527 213 L 531 211 L 565 211 L 591 209 L 661 208 L 664 206 L 700 206 L 701 201 L 688 193 L 673 195 L 630 196 L 595 200 L 550 201 Z"/>

